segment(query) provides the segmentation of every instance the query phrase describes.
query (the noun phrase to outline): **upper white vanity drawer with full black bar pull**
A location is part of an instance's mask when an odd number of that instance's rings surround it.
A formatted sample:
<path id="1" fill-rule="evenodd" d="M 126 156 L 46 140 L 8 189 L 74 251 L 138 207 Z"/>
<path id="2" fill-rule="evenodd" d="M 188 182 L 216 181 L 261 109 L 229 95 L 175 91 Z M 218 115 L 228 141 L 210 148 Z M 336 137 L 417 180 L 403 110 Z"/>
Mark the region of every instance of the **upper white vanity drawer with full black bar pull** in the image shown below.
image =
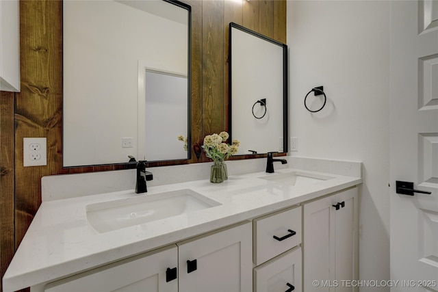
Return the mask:
<path id="1" fill-rule="evenodd" d="M 255 265 L 301 243 L 301 207 L 279 211 L 253 222 Z"/>

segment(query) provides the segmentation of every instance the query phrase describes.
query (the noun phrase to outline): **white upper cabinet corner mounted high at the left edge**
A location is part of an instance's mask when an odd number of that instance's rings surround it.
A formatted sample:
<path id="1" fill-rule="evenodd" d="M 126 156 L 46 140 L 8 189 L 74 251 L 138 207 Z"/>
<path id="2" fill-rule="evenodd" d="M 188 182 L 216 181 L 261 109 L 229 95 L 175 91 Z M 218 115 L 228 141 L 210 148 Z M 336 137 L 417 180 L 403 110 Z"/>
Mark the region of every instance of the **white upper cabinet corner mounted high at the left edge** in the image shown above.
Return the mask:
<path id="1" fill-rule="evenodd" d="M 0 91 L 20 91 L 18 0 L 0 1 Z"/>

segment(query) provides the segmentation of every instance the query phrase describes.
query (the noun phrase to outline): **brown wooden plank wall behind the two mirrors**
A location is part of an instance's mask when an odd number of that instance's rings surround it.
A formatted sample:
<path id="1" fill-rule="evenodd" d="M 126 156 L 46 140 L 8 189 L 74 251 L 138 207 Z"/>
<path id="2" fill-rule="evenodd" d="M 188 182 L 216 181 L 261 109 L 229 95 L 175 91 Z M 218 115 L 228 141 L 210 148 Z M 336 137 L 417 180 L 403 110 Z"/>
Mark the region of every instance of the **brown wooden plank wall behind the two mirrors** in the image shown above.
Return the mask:
<path id="1" fill-rule="evenodd" d="M 285 43 L 286 0 L 183 2 L 192 6 L 192 140 L 202 144 L 229 130 L 229 23 Z M 41 204 L 42 176 L 126 168 L 62 168 L 62 1 L 21 0 L 20 19 L 21 92 L 0 95 L 2 277 Z M 23 168 L 23 137 L 47 137 L 47 166 Z"/>

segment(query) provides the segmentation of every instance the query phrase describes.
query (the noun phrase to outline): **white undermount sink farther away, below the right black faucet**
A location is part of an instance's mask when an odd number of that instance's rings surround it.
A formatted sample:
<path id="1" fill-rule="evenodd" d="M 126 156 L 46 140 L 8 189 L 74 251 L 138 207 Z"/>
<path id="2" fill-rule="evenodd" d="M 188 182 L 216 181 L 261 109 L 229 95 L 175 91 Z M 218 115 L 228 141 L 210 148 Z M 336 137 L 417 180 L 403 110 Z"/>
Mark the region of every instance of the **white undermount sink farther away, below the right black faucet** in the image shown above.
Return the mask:
<path id="1" fill-rule="evenodd" d="M 272 181 L 274 183 L 286 183 L 295 187 L 301 187 L 303 185 L 311 185 L 320 181 L 327 181 L 333 176 L 324 176 L 322 174 L 311 174 L 308 172 L 287 172 L 281 174 L 271 174 L 267 176 L 261 176 L 259 178 L 266 181 Z"/>

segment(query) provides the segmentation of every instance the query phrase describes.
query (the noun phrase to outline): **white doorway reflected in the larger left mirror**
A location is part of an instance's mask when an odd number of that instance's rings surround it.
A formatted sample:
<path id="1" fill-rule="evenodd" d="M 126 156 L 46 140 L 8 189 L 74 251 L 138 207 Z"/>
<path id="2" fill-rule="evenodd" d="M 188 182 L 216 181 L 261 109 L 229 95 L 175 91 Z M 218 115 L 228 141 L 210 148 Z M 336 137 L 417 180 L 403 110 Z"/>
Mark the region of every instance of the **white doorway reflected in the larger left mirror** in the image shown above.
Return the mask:
<path id="1" fill-rule="evenodd" d="M 141 72 L 140 72 L 141 71 Z M 139 64 L 138 159 L 159 161 L 187 159 L 184 142 L 188 133 L 188 82 L 186 75 L 153 70 Z M 172 122 L 169 122 L 172 120 Z"/>

